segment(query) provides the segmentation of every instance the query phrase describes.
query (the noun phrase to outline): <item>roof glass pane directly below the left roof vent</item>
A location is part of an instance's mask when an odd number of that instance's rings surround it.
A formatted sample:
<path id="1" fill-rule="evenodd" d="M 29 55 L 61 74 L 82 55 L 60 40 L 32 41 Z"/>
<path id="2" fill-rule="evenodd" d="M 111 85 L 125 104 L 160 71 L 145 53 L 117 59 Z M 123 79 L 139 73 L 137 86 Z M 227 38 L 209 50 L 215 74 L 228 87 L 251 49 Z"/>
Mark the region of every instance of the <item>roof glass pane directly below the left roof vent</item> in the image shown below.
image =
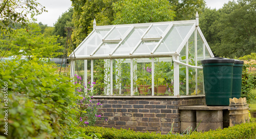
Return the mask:
<path id="1" fill-rule="evenodd" d="M 103 43 L 94 55 L 110 55 L 117 44 L 117 42 Z"/>

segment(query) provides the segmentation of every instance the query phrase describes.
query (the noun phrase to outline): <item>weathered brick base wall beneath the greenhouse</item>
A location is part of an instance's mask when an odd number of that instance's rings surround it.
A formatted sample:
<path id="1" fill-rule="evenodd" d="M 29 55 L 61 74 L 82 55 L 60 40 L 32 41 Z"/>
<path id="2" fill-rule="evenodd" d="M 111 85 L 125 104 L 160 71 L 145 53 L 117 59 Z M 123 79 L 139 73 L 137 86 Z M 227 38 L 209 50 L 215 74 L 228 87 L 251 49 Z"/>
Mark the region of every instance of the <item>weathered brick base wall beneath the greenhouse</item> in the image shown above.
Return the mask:
<path id="1" fill-rule="evenodd" d="M 131 129 L 140 132 L 180 132 L 179 106 L 205 105 L 205 97 L 193 98 L 100 98 L 106 121 L 97 126 Z"/>

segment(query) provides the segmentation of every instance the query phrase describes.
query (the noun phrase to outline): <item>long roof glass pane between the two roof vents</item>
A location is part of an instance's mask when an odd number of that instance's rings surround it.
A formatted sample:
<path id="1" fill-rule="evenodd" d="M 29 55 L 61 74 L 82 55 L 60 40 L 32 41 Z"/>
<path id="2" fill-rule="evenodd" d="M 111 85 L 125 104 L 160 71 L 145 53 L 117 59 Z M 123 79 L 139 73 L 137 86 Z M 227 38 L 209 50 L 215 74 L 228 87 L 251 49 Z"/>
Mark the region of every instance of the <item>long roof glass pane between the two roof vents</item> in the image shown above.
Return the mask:
<path id="1" fill-rule="evenodd" d="M 129 55 L 131 51 L 136 47 L 137 43 L 140 41 L 141 36 L 146 31 L 147 28 L 133 29 L 131 33 L 123 40 L 120 47 L 115 51 L 113 55 L 117 54 L 127 54 Z"/>

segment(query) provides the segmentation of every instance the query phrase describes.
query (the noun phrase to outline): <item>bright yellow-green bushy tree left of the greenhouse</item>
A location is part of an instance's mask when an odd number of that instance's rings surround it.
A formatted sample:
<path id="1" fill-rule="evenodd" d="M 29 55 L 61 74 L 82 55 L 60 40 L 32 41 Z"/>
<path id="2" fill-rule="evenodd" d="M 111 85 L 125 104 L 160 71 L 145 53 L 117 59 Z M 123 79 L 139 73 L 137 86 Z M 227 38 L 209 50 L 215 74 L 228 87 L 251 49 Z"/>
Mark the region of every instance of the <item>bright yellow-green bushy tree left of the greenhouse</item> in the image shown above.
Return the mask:
<path id="1" fill-rule="evenodd" d="M 56 40 L 58 36 L 51 36 L 40 33 L 41 29 L 38 24 L 30 24 L 28 29 L 17 29 L 13 41 L 2 39 L 2 52 L 7 48 L 8 55 L 23 55 L 30 57 L 56 57 L 62 53 L 56 52 L 61 49 Z M 7 56 L 8 56 L 7 55 Z"/>

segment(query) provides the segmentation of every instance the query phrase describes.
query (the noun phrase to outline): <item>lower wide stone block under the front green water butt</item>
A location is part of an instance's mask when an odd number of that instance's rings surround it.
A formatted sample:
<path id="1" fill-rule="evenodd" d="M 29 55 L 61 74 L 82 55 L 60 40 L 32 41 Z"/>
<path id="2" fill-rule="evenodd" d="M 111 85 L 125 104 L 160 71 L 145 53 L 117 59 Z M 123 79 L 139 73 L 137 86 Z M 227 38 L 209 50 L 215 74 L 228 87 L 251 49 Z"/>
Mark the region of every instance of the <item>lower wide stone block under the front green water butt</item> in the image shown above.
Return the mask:
<path id="1" fill-rule="evenodd" d="M 197 123 L 198 125 L 199 123 Z M 223 129 L 223 123 L 222 122 L 201 122 L 198 127 L 197 127 L 197 131 L 209 131 L 210 129 L 212 130 L 216 130 L 218 128 Z"/>

